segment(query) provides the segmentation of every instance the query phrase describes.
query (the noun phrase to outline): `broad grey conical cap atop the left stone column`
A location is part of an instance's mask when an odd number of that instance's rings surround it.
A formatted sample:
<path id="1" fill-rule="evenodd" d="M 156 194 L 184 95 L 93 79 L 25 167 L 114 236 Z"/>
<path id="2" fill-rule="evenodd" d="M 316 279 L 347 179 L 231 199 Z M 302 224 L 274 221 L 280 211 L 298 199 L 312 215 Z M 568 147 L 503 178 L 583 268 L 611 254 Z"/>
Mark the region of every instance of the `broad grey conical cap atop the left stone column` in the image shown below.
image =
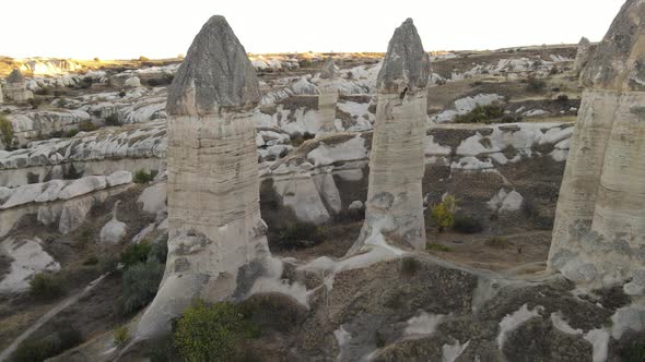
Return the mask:
<path id="1" fill-rule="evenodd" d="M 192 40 L 168 89 L 166 111 L 206 116 L 247 110 L 260 101 L 256 71 L 224 16 L 212 16 Z"/>

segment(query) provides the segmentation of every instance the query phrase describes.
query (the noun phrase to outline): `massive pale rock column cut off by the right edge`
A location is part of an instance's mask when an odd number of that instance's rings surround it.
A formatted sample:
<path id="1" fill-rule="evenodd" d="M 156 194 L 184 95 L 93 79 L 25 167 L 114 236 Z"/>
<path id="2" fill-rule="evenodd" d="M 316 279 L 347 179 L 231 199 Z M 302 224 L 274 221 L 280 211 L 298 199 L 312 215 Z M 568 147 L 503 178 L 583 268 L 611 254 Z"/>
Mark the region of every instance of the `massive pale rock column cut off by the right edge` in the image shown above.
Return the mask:
<path id="1" fill-rule="evenodd" d="M 645 3 L 625 2 L 583 70 L 549 266 L 645 291 Z"/>

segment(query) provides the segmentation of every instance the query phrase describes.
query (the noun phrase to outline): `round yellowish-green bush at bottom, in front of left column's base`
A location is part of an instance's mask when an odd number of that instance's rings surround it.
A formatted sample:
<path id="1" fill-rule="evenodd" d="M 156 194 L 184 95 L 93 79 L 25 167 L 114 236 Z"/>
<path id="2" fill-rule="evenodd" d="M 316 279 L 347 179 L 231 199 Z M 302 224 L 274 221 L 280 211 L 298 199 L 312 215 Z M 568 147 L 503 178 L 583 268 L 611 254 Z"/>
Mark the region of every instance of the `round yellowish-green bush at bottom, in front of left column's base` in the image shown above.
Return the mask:
<path id="1" fill-rule="evenodd" d="M 250 329 L 237 305 L 197 301 L 177 321 L 174 339 L 187 362 L 232 361 L 253 336 Z"/>

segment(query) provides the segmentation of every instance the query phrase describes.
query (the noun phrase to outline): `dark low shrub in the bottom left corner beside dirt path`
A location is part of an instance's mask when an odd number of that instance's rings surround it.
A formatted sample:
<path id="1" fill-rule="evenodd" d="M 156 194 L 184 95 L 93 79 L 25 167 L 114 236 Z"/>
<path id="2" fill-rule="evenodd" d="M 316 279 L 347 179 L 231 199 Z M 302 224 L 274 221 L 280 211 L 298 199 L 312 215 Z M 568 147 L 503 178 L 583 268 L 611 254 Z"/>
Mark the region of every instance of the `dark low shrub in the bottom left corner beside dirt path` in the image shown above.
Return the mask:
<path id="1" fill-rule="evenodd" d="M 45 361 L 48 358 L 79 346 L 81 342 L 83 342 L 83 336 L 80 331 L 73 328 L 66 328 L 39 340 L 27 339 L 22 341 L 15 352 L 13 352 L 12 358 L 16 362 Z"/>

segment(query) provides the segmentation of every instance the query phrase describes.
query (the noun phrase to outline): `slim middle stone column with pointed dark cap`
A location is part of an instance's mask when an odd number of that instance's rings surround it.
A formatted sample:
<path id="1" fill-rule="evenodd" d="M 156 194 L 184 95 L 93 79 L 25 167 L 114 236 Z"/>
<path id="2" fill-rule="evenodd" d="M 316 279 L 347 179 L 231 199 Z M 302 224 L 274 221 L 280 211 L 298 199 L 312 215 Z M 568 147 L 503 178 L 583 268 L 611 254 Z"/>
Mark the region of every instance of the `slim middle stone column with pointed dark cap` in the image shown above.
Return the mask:
<path id="1" fill-rule="evenodd" d="M 378 73 L 365 222 L 349 254 L 383 244 L 425 245 L 421 180 L 430 58 L 411 19 L 389 41 Z"/>

